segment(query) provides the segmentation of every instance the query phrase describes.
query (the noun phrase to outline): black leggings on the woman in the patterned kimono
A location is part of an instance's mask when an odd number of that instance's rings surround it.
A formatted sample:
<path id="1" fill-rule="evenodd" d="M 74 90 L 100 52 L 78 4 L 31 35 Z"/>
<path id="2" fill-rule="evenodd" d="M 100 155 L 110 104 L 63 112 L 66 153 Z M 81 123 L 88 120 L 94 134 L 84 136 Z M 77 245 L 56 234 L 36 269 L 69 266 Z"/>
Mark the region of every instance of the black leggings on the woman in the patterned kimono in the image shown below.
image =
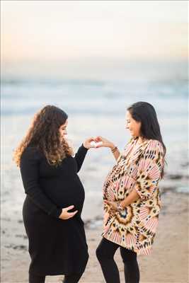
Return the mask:
<path id="1" fill-rule="evenodd" d="M 126 248 L 103 238 L 96 249 L 96 256 L 101 264 L 105 282 L 120 283 L 118 266 L 113 259 L 118 248 L 120 248 L 120 254 L 122 261 L 124 262 L 125 283 L 139 283 L 137 253 L 134 253 L 132 250 L 127 250 Z"/>

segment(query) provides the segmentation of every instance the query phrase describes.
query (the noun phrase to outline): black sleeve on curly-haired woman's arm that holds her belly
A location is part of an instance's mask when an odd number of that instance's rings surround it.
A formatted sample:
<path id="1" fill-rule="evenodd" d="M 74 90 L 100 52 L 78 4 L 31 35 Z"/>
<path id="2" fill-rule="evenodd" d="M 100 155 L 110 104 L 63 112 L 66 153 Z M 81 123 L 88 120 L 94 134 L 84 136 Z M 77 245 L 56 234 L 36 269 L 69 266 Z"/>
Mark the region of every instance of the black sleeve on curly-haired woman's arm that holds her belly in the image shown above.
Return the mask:
<path id="1" fill-rule="evenodd" d="M 40 154 L 38 149 L 28 147 L 21 156 L 21 177 L 25 194 L 47 214 L 56 218 L 62 213 L 62 208 L 58 208 L 48 197 L 42 192 L 39 184 L 39 163 Z"/>

